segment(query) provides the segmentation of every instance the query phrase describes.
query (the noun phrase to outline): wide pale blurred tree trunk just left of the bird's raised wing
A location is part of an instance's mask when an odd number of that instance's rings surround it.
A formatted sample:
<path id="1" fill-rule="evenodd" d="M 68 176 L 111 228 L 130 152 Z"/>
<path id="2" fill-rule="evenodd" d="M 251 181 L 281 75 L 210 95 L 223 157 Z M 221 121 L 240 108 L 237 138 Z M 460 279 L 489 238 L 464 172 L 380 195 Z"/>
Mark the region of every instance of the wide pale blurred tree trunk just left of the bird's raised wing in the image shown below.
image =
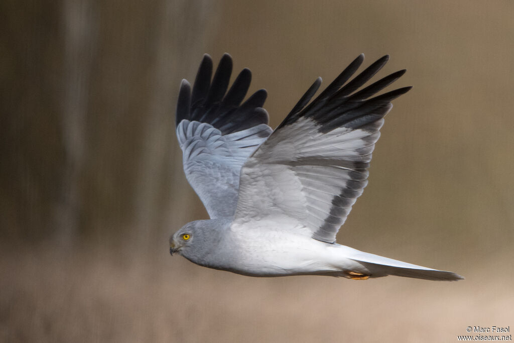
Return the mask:
<path id="1" fill-rule="evenodd" d="M 215 17 L 212 7 L 208 1 L 161 1 L 155 12 L 155 64 L 135 195 L 136 242 L 141 247 L 152 245 L 162 229 L 169 230 L 170 218 L 163 212 L 181 202 L 181 194 L 170 196 L 167 182 L 173 168 L 180 164 L 181 169 L 181 154 L 175 166 L 167 163 L 177 153 L 171 141 L 175 140 L 176 93 L 184 77 L 180 65 L 191 58 L 199 60 L 196 51 L 205 44 Z"/>

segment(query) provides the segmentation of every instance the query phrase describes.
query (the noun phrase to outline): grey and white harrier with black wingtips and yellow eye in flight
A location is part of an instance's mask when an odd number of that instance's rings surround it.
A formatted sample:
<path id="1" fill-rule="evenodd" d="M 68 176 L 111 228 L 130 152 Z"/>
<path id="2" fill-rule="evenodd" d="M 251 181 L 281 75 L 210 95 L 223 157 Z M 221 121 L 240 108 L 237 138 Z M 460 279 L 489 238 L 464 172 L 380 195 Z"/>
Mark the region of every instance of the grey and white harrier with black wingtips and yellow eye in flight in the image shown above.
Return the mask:
<path id="1" fill-rule="evenodd" d="M 210 219 L 175 232 L 172 255 L 255 277 L 462 279 L 336 243 L 368 183 L 383 117 L 391 101 L 411 89 L 376 96 L 405 69 L 361 88 L 389 56 L 353 77 L 363 60 L 359 55 L 311 101 L 318 78 L 273 131 L 263 109 L 265 89 L 243 102 L 250 70 L 243 69 L 229 88 L 230 55 L 222 57 L 214 77 L 212 59 L 204 56 L 193 87 L 187 80 L 180 85 L 176 133 L 186 177 Z"/>

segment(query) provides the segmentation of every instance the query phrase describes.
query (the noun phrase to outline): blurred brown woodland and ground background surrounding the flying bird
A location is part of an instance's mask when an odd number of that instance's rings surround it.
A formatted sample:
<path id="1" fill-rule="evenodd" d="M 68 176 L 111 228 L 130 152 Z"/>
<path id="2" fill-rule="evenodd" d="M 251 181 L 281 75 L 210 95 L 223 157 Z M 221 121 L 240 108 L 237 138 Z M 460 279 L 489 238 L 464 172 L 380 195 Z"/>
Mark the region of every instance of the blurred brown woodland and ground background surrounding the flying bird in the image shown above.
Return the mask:
<path id="1" fill-rule="evenodd" d="M 0 341 L 456 341 L 514 330 L 514 3 L 0 3 Z M 407 68 L 338 241 L 460 282 L 255 279 L 170 257 L 207 218 L 174 107 L 203 56 L 272 127 L 359 53 Z"/>

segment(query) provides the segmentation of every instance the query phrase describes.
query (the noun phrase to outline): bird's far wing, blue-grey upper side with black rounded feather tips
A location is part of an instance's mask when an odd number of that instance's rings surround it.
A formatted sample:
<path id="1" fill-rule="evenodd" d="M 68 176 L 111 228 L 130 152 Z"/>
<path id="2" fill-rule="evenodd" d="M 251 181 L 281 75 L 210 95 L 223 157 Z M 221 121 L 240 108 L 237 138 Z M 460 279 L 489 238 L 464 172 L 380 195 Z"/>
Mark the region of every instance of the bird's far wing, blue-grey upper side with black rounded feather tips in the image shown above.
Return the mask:
<path id="1" fill-rule="evenodd" d="M 211 82 L 212 60 L 205 55 L 192 92 L 182 80 L 177 102 L 184 172 L 211 218 L 233 216 L 241 167 L 272 132 L 262 108 L 266 91 L 260 89 L 241 104 L 251 73 L 243 69 L 227 92 L 231 73 L 232 58 L 225 54 Z"/>

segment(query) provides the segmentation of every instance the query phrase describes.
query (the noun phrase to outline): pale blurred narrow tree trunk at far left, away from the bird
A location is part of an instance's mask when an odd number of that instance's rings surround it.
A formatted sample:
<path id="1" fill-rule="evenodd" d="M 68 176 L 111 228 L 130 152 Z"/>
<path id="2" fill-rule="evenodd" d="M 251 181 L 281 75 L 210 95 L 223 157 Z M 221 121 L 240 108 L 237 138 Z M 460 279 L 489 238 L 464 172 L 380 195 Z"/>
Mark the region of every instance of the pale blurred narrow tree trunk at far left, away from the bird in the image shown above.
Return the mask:
<path id="1" fill-rule="evenodd" d="M 79 231 L 85 168 L 86 116 L 93 57 L 97 49 L 98 13 L 91 0 L 68 0 L 62 6 L 64 78 L 61 127 L 64 144 L 63 177 L 54 232 L 61 244 L 70 245 Z"/>

